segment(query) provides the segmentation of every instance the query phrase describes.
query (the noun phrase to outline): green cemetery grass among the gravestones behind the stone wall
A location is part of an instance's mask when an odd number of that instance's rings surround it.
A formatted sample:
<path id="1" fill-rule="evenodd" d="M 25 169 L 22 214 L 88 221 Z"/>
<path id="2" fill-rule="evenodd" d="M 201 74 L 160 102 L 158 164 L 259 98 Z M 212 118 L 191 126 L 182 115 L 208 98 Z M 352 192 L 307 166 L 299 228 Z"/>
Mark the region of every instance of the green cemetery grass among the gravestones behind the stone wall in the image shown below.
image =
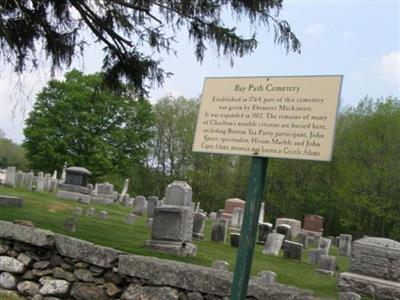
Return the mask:
<path id="1" fill-rule="evenodd" d="M 144 248 L 144 242 L 150 237 L 150 230 L 146 226 L 146 218 L 139 217 L 134 225 L 127 225 L 124 219 L 131 209 L 121 205 L 90 204 L 97 210 L 108 211 L 107 220 L 88 218 L 85 215 L 78 218 L 77 231 L 66 232 L 63 229 L 64 219 L 72 216 L 72 210 L 76 206 L 86 207 L 74 201 L 60 200 L 50 193 L 28 192 L 25 190 L 0 187 L 0 194 L 22 197 L 25 201 L 23 208 L 0 208 L 0 219 L 13 221 L 15 219 L 31 220 L 36 227 L 50 229 L 57 233 L 70 235 L 76 238 L 91 241 L 93 243 L 116 248 L 122 251 L 156 256 L 159 258 L 183 261 L 192 264 L 210 266 L 214 260 L 225 260 L 230 269 L 234 269 L 236 249 L 227 242 L 222 245 L 210 242 L 211 222 L 207 221 L 205 239 L 194 241 L 197 245 L 196 257 L 176 257 L 150 251 Z M 261 253 L 261 245 L 256 245 L 253 257 L 252 275 L 262 270 L 270 270 L 277 273 L 280 283 L 310 289 L 316 296 L 338 298 L 336 278 L 321 275 L 315 272 L 315 267 L 308 264 L 308 251 L 304 251 L 303 260 L 293 261 L 280 257 L 267 256 Z M 337 255 L 337 249 L 331 247 L 331 255 Z M 340 272 L 346 271 L 347 258 L 337 256 Z"/>

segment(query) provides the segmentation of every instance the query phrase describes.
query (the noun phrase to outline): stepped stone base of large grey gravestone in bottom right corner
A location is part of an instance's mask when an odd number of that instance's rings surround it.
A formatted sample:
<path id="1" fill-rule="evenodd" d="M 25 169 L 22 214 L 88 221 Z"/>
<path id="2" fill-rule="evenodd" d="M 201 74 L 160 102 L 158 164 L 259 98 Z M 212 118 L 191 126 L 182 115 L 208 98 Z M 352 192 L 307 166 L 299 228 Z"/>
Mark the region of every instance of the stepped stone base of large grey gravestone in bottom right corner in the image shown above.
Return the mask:
<path id="1" fill-rule="evenodd" d="M 338 286 L 340 292 L 355 292 L 374 299 L 400 299 L 400 282 L 345 272 L 340 273 Z"/>

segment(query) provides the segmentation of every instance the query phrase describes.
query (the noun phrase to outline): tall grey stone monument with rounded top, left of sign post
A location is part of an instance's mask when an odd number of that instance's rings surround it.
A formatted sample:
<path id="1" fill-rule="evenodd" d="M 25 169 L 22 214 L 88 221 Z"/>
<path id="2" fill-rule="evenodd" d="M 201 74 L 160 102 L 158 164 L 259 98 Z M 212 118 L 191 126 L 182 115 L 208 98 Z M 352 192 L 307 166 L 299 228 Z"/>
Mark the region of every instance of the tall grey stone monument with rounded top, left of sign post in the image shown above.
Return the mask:
<path id="1" fill-rule="evenodd" d="M 151 240 L 145 246 L 179 256 L 196 256 L 192 234 L 192 188 L 185 181 L 174 181 L 165 191 L 164 205 L 154 208 Z"/>

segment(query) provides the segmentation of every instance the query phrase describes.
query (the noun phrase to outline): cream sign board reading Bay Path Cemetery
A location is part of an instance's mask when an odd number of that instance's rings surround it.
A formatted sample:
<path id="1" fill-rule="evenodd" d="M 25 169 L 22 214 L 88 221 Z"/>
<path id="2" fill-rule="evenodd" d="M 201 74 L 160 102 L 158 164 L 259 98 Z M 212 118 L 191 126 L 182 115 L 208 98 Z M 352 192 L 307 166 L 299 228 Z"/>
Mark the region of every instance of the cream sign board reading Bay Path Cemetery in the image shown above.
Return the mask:
<path id="1" fill-rule="evenodd" d="M 193 151 L 329 161 L 342 78 L 206 78 Z"/>

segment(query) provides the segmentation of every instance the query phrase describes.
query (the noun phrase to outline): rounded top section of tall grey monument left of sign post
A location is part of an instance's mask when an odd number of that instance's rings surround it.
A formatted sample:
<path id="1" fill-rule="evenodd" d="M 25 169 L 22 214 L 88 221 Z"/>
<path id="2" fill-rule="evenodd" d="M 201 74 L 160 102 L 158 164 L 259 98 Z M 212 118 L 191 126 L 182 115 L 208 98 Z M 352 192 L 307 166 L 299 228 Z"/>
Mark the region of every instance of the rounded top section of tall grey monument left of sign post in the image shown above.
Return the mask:
<path id="1" fill-rule="evenodd" d="M 192 207 L 192 188 L 186 181 L 175 180 L 167 186 L 164 204 Z"/>

